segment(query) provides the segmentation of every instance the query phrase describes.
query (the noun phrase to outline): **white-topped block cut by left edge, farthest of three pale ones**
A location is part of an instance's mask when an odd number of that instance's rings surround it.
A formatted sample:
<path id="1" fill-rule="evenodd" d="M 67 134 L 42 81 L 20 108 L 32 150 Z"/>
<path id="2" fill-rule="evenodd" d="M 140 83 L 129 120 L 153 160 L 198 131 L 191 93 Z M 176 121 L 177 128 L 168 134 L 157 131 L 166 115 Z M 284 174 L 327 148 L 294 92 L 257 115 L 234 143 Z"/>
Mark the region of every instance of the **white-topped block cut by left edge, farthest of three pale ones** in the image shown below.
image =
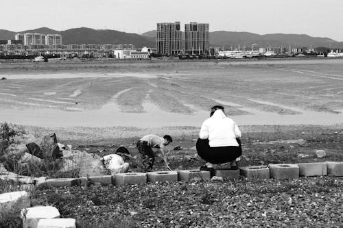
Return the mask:
<path id="1" fill-rule="evenodd" d="M 6 212 L 12 208 L 12 205 L 17 204 L 20 209 L 30 206 L 29 194 L 25 191 L 6 192 L 0 194 L 0 211 Z"/>

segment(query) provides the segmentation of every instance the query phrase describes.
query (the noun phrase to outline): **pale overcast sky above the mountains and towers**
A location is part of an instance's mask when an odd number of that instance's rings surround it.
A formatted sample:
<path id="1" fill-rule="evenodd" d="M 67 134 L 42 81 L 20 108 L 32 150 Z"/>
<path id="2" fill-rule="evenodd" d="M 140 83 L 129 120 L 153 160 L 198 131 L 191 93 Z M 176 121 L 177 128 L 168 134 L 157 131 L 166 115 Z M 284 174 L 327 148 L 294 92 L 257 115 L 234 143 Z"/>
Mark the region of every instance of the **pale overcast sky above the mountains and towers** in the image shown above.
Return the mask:
<path id="1" fill-rule="evenodd" d="M 209 23 L 210 31 L 308 34 L 343 41 L 342 0 L 1 1 L 0 29 L 115 29 L 141 34 L 158 22 Z"/>

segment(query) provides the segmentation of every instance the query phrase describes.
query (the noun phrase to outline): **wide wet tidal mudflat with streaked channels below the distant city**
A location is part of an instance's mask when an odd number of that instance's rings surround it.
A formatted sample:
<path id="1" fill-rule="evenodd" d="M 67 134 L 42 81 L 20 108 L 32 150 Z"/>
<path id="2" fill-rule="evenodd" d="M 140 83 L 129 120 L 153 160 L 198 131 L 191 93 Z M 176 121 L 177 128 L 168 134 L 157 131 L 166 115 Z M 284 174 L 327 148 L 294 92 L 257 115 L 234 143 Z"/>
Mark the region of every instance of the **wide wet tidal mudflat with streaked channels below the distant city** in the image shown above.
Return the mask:
<path id="1" fill-rule="evenodd" d="M 193 133 L 222 104 L 247 129 L 337 125 L 342 72 L 341 59 L 2 62 L 0 122 L 104 138 L 163 127 Z"/>

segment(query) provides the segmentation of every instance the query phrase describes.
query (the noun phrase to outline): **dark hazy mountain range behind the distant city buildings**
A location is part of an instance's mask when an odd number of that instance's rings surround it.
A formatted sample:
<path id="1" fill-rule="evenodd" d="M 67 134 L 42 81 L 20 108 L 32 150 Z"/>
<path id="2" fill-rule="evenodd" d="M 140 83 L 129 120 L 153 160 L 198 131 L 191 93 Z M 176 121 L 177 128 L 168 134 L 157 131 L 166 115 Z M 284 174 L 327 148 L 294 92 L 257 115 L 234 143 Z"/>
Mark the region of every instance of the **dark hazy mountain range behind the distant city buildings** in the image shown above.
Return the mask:
<path id="1" fill-rule="evenodd" d="M 156 31 L 147 31 L 141 35 L 110 29 L 90 29 L 80 27 L 56 31 L 47 27 L 26 31 L 8 31 L 0 29 L 0 40 L 14 39 L 16 33 L 36 32 L 40 34 L 61 34 L 64 45 L 69 44 L 134 44 L 136 47 L 155 47 Z M 182 37 L 184 33 L 182 32 Z M 211 46 L 225 47 L 332 47 L 343 48 L 343 42 L 331 38 L 312 37 L 305 34 L 253 34 L 245 31 L 211 31 Z"/>

